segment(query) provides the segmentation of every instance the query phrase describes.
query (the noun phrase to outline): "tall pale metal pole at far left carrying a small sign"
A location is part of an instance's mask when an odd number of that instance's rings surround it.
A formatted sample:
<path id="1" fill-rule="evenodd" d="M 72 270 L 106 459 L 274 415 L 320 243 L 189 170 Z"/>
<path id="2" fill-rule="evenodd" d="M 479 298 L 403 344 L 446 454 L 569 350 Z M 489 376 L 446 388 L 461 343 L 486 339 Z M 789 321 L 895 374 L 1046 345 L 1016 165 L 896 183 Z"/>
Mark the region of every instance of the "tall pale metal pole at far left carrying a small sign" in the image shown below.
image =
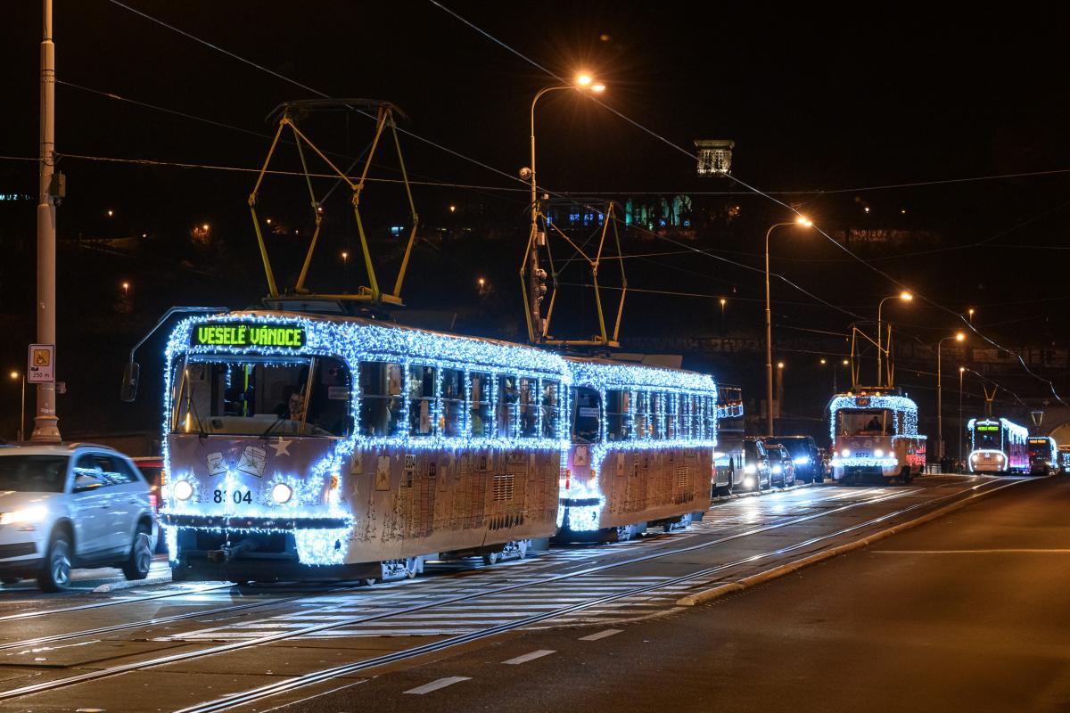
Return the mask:
<path id="1" fill-rule="evenodd" d="M 56 45 L 52 43 L 52 0 L 43 0 L 41 41 L 41 182 L 37 201 L 37 341 L 56 343 Z M 52 365 L 55 368 L 55 365 Z M 30 440 L 60 440 L 56 417 L 56 383 L 37 384 L 37 412 Z"/>

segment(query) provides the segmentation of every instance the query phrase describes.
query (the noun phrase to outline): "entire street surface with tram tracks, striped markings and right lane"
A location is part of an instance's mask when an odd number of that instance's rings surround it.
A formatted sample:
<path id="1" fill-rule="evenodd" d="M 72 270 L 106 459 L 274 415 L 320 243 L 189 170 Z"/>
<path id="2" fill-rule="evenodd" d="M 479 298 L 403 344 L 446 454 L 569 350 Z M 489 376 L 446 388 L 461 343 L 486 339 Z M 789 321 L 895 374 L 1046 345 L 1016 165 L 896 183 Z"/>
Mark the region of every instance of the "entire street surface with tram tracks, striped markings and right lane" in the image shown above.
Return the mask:
<path id="1" fill-rule="evenodd" d="M 1065 553 L 1018 551 L 1059 548 L 1068 490 L 959 476 L 798 487 L 715 503 L 685 531 L 429 564 L 374 587 L 2 591 L 0 711 L 1026 710 L 1041 691 L 1038 710 L 1064 710 L 1043 707 L 1066 691 L 1055 667 L 1070 647 L 1053 617 L 1067 583 L 1035 604 L 1019 579 L 1057 575 Z M 677 603 L 977 492 L 991 494 L 870 549 L 713 605 Z M 1022 524 L 1049 521 L 1045 544 L 984 544 L 1033 542 L 1041 530 Z M 949 552 L 914 552 L 934 548 Z M 1015 658 L 1034 649 L 1008 621 L 1046 624 L 1040 654 Z M 974 669 L 999 695 L 964 693 Z"/>

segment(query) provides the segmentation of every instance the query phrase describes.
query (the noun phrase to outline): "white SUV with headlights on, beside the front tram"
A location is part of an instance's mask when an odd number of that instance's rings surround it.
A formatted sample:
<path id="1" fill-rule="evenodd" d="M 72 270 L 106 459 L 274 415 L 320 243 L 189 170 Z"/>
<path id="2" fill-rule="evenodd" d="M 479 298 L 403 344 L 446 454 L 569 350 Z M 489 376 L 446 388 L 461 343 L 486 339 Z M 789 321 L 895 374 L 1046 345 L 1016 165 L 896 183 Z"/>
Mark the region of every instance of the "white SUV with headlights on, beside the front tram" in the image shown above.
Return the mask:
<path id="1" fill-rule="evenodd" d="M 149 574 L 155 513 L 134 463 L 90 444 L 0 448 L 0 579 L 36 578 L 45 591 L 73 567 Z"/>

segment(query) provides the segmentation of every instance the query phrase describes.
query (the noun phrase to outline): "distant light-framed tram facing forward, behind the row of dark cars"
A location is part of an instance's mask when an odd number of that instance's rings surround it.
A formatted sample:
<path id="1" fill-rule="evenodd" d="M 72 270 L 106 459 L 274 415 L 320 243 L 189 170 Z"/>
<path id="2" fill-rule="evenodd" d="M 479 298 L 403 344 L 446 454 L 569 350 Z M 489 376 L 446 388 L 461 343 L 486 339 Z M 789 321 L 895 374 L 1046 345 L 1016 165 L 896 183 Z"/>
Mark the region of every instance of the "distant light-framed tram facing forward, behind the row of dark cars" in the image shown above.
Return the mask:
<path id="1" fill-rule="evenodd" d="M 834 456 L 840 482 L 899 479 L 908 483 L 926 464 L 926 437 L 918 433 L 918 406 L 882 390 L 841 393 L 828 404 Z"/>

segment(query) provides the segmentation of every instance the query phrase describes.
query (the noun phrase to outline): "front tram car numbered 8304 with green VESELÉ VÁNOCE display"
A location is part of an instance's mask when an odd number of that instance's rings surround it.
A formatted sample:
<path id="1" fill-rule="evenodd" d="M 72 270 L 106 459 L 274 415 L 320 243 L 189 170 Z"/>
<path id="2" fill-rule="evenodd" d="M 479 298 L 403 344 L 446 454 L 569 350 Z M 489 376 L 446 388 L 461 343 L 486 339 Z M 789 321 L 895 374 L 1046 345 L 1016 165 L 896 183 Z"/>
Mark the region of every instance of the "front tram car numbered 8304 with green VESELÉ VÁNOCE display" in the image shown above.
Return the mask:
<path id="1" fill-rule="evenodd" d="M 174 578 L 522 556 L 557 527 L 569 379 L 553 354 L 356 317 L 185 320 L 166 373 Z"/>

